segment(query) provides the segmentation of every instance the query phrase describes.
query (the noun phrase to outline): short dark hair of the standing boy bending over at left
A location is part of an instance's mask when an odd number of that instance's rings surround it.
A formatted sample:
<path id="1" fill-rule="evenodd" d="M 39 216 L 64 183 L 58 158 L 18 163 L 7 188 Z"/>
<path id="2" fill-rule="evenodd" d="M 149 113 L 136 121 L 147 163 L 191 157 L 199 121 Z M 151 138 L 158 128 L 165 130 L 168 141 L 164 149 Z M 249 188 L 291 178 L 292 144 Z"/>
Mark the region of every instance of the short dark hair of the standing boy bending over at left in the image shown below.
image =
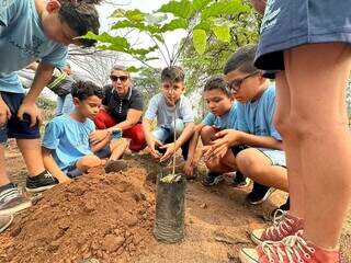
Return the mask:
<path id="1" fill-rule="evenodd" d="M 102 0 L 60 0 L 61 7 L 58 12 L 59 19 L 67 23 L 79 36 L 86 35 L 89 31 L 99 34 L 100 22 L 95 3 Z M 79 39 L 84 47 L 93 46 L 97 41 Z"/>

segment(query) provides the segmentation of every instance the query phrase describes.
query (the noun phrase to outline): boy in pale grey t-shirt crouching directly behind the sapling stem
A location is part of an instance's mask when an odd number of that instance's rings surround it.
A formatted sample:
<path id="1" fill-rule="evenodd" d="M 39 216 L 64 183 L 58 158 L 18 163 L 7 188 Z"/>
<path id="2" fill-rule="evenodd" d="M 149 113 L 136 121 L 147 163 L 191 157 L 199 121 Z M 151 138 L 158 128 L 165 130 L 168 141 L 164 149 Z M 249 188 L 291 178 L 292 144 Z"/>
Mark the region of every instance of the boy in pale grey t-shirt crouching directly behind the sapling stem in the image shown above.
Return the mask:
<path id="1" fill-rule="evenodd" d="M 165 68 L 161 72 L 161 93 L 151 98 L 143 119 L 143 129 L 151 156 L 166 161 L 182 148 L 188 159 L 189 139 L 194 129 L 194 114 L 191 103 L 183 95 L 184 71 L 177 66 Z M 176 111 L 176 125 L 174 125 Z M 157 117 L 157 127 L 151 132 L 151 123 Z M 174 129 L 177 134 L 176 144 Z M 161 155 L 157 149 L 165 151 Z"/>

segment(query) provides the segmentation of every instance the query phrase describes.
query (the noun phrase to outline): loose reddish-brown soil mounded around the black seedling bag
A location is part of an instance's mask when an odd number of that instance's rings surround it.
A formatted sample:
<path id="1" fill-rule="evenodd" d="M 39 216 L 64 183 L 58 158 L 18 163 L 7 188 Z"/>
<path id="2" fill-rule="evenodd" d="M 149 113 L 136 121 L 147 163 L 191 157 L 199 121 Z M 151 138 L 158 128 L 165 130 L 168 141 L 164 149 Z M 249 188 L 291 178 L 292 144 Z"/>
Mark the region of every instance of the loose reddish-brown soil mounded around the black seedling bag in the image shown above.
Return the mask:
<path id="1" fill-rule="evenodd" d="M 13 145 L 7 161 L 13 181 L 22 185 L 25 168 Z M 186 237 L 179 244 L 161 244 L 152 237 L 152 180 L 161 168 L 147 156 L 128 157 L 127 163 L 126 171 L 106 175 L 97 169 L 45 192 L 0 236 L 0 262 L 238 262 L 238 250 L 253 247 L 251 229 L 265 226 L 263 215 L 285 199 L 275 192 L 263 205 L 249 206 L 245 195 L 250 188 L 233 188 L 229 178 L 212 188 L 189 182 Z M 343 263 L 351 262 L 350 241 L 349 218 L 341 240 Z"/>

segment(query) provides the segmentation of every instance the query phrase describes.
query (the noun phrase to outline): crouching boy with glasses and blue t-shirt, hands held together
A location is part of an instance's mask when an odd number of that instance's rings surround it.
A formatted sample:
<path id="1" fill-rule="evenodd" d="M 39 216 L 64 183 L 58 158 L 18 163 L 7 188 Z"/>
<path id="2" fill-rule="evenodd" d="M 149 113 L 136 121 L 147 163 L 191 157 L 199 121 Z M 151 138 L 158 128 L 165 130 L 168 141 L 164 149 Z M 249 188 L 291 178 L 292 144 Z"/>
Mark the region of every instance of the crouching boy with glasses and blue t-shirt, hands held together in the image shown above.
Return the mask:
<path id="1" fill-rule="evenodd" d="M 227 61 L 224 73 L 238 101 L 237 130 L 216 134 L 217 139 L 204 153 L 205 158 L 225 157 L 236 146 L 250 146 L 236 156 L 236 164 L 254 184 L 247 196 L 250 204 L 260 204 L 274 188 L 287 192 L 285 156 L 280 134 L 273 125 L 275 89 L 253 67 L 256 47 L 245 46 Z M 273 188 L 274 187 L 274 188 Z"/>

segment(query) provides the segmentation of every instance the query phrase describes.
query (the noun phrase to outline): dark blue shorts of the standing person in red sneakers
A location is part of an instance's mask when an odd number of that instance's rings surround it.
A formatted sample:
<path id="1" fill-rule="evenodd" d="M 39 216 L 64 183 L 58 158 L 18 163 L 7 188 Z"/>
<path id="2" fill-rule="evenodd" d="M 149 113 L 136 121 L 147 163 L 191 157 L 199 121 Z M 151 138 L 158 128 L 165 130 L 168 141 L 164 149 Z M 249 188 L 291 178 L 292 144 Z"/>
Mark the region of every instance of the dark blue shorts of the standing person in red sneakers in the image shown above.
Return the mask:
<path id="1" fill-rule="evenodd" d="M 284 70 L 284 50 L 332 42 L 351 44 L 351 0 L 268 0 L 254 65 Z"/>

